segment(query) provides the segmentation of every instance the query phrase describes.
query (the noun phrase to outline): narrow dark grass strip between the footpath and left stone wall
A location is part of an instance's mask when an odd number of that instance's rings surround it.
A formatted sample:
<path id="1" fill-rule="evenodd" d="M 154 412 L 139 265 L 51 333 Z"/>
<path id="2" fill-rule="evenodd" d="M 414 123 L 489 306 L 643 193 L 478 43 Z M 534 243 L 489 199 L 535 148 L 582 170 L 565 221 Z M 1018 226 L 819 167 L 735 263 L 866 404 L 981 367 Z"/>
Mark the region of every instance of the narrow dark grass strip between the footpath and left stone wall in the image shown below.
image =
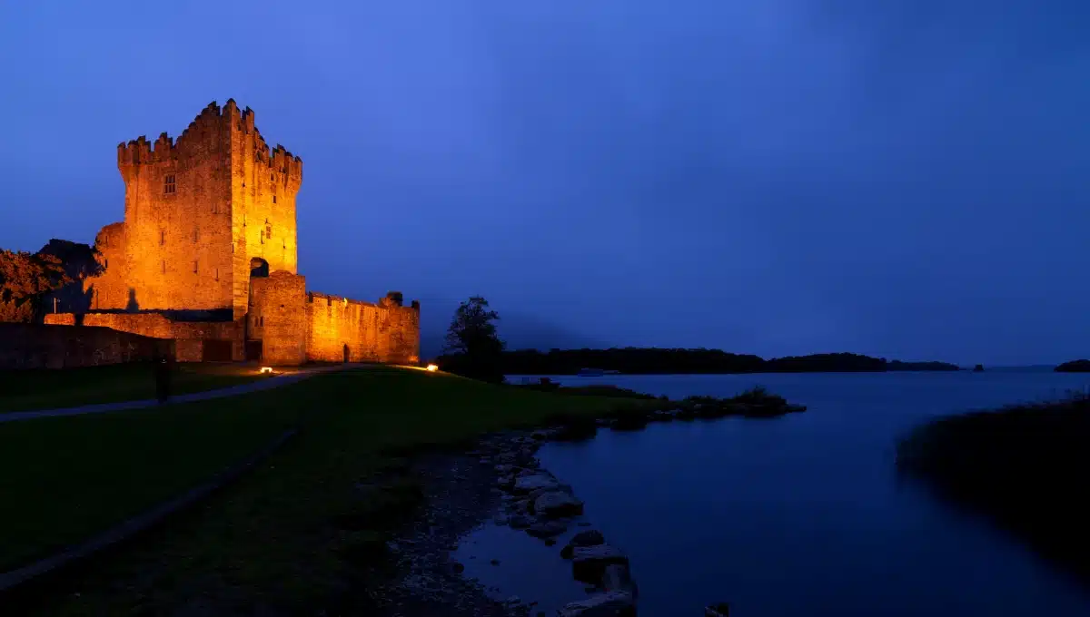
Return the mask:
<path id="1" fill-rule="evenodd" d="M 240 365 L 174 366 L 171 394 L 203 392 L 266 379 Z M 155 398 L 155 375 L 148 362 L 0 371 L 0 412 L 57 409 Z"/>

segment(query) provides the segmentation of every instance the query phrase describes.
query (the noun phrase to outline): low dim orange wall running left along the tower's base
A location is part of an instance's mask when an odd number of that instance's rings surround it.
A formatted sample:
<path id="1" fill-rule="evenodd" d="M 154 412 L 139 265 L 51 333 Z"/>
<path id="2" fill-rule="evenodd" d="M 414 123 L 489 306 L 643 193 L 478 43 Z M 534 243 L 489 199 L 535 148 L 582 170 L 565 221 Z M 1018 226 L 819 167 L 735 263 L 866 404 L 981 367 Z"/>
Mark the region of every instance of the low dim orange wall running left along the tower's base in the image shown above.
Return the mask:
<path id="1" fill-rule="evenodd" d="M 47 324 L 73 325 L 76 317 L 72 313 L 50 313 Z M 242 360 L 243 323 L 241 321 L 174 321 L 155 312 L 89 312 L 83 316 L 84 326 L 105 326 L 120 332 L 130 332 L 150 338 L 177 340 L 177 359 L 180 362 L 199 362 L 204 349 L 203 341 L 230 341 L 231 359 Z"/>

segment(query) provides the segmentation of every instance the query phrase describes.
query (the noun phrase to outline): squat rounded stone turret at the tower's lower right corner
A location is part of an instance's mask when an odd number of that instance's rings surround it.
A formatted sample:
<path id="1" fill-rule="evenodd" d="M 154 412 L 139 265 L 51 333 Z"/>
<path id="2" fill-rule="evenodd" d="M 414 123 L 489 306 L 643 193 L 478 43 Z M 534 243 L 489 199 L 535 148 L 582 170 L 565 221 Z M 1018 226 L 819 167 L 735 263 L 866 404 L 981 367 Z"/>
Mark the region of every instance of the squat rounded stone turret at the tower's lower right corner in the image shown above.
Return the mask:
<path id="1" fill-rule="evenodd" d="M 274 272 L 250 281 L 246 337 L 262 341 L 262 362 L 306 361 L 306 277 Z"/>

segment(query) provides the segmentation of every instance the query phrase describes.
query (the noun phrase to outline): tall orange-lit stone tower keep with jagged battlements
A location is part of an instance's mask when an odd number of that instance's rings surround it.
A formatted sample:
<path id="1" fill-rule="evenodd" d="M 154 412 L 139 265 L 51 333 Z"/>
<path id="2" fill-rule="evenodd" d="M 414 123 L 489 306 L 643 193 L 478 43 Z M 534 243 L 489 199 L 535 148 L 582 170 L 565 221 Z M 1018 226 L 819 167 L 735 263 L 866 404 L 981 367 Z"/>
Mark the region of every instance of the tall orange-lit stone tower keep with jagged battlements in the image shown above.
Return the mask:
<path id="1" fill-rule="evenodd" d="M 254 266 L 298 270 L 295 195 L 303 162 L 269 149 L 254 112 L 213 101 L 177 141 L 118 145 L 123 223 L 102 227 L 93 310 L 247 310 Z"/>

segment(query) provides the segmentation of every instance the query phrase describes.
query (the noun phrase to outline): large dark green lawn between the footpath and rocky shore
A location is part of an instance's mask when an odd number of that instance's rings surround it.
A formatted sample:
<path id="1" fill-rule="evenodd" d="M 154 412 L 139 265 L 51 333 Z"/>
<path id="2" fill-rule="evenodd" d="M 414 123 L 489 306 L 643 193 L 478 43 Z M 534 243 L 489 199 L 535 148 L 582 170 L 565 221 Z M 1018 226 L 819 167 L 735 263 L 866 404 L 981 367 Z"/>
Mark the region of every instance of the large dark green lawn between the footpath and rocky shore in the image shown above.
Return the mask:
<path id="1" fill-rule="evenodd" d="M 179 405 L 0 424 L 0 564 L 82 539 L 243 458 L 286 427 L 299 437 L 195 511 L 81 575 L 40 614 L 167 614 L 262 605 L 319 614 L 351 568 L 346 516 L 376 525 L 383 489 L 358 484 L 391 452 L 643 403 L 488 385 L 399 369 L 327 373 L 280 388 Z M 80 591 L 73 595 L 72 591 Z M 354 593 L 362 594 L 359 589 Z"/>

